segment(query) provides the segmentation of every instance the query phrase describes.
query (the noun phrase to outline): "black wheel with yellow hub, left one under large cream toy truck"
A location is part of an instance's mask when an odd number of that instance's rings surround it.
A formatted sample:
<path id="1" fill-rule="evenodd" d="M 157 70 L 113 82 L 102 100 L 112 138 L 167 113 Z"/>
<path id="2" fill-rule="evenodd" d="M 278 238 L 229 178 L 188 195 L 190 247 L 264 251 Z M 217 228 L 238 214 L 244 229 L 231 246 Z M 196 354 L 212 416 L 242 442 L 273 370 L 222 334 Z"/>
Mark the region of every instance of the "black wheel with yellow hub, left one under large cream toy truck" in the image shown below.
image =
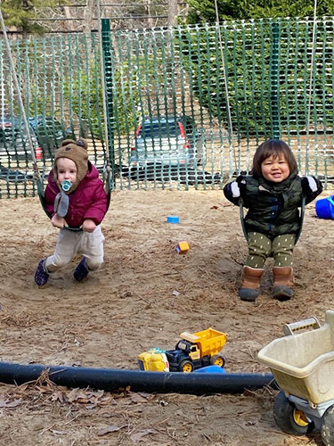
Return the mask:
<path id="1" fill-rule="evenodd" d="M 305 435 L 314 430 L 314 423 L 308 421 L 305 413 L 297 409 L 282 391 L 273 403 L 273 418 L 286 434 Z"/>

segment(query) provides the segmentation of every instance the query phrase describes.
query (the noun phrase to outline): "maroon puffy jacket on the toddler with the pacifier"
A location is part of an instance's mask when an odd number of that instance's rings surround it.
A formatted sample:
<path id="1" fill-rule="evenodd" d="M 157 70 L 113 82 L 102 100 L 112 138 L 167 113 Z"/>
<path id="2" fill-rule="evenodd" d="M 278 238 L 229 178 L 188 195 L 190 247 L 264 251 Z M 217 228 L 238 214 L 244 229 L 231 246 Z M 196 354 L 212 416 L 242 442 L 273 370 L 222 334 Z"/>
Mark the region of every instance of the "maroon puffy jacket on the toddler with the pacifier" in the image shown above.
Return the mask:
<path id="1" fill-rule="evenodd" d="M 53 203 L 60 192 L 55 182 L 53 170 L 49 173 L 48 184 L 45 189 L 45 208 L 53 216 Z M 103 188 L 99 172 L 88 161 L 86 177 L 80 181 L 77 189 L 69 194 L 69 211 L 65 217 L 69 227 L 80 227 L 85 219 L 92 219 L 95 225 L 102 222 L 108 209 L 108 195 Z"/>

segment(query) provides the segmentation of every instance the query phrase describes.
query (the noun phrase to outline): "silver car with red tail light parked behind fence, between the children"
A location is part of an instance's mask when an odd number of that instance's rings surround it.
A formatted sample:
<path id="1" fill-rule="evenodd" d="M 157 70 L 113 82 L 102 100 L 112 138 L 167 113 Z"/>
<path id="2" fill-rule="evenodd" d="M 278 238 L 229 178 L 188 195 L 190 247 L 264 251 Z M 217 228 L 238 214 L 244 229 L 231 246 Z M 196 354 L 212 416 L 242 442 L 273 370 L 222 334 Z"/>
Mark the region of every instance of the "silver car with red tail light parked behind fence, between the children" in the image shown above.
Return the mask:
<path id="1" fill-rule="evenodd" d="M 205 161 L 205 156 L 203 132 L 190 116 L 151 117 L 143 120 L 135 131 L 130 165 L 193 167 Z"/>

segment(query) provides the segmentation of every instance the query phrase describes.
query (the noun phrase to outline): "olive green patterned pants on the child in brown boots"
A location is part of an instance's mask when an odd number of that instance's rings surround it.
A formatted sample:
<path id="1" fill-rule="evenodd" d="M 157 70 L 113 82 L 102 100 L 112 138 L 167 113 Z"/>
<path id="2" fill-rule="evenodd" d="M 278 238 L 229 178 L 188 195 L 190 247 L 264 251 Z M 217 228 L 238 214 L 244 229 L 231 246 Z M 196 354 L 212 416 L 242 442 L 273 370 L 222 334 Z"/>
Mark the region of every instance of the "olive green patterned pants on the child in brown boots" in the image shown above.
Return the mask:
<path id="1" fill-rule="evenodd" d="M 272 240 L 259 232 L 249 232 L 246 265 L 264 268 L 265 260 L 273 257 L 275 267 L 291 267 L 295 240 L 295 234 L 277 235 Z"/>

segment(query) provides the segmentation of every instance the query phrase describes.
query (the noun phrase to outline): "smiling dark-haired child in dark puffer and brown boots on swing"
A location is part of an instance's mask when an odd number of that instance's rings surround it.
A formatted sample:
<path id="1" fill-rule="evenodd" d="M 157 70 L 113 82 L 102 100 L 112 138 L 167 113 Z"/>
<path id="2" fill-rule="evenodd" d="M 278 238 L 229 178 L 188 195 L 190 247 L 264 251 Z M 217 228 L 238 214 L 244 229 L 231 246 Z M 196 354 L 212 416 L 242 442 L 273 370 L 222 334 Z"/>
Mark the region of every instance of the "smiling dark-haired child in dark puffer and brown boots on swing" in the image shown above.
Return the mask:
<path id="1" fill-rule="evenodd" d="M 298 207 L 322 193 L 321 182 L 297 175 L 297 161 L 289 145 L 269 139 L 257 147 L 250 175 L 240 175 L 224 186 L 225 197 L 248 208 L 245 228 L 248 257 L 239 290 L 242 301 L 256 301 L 265 260 L 273 256 L 273 297 L 280 301 L 293 295 L 292 256 L 301 229 Z"/>

